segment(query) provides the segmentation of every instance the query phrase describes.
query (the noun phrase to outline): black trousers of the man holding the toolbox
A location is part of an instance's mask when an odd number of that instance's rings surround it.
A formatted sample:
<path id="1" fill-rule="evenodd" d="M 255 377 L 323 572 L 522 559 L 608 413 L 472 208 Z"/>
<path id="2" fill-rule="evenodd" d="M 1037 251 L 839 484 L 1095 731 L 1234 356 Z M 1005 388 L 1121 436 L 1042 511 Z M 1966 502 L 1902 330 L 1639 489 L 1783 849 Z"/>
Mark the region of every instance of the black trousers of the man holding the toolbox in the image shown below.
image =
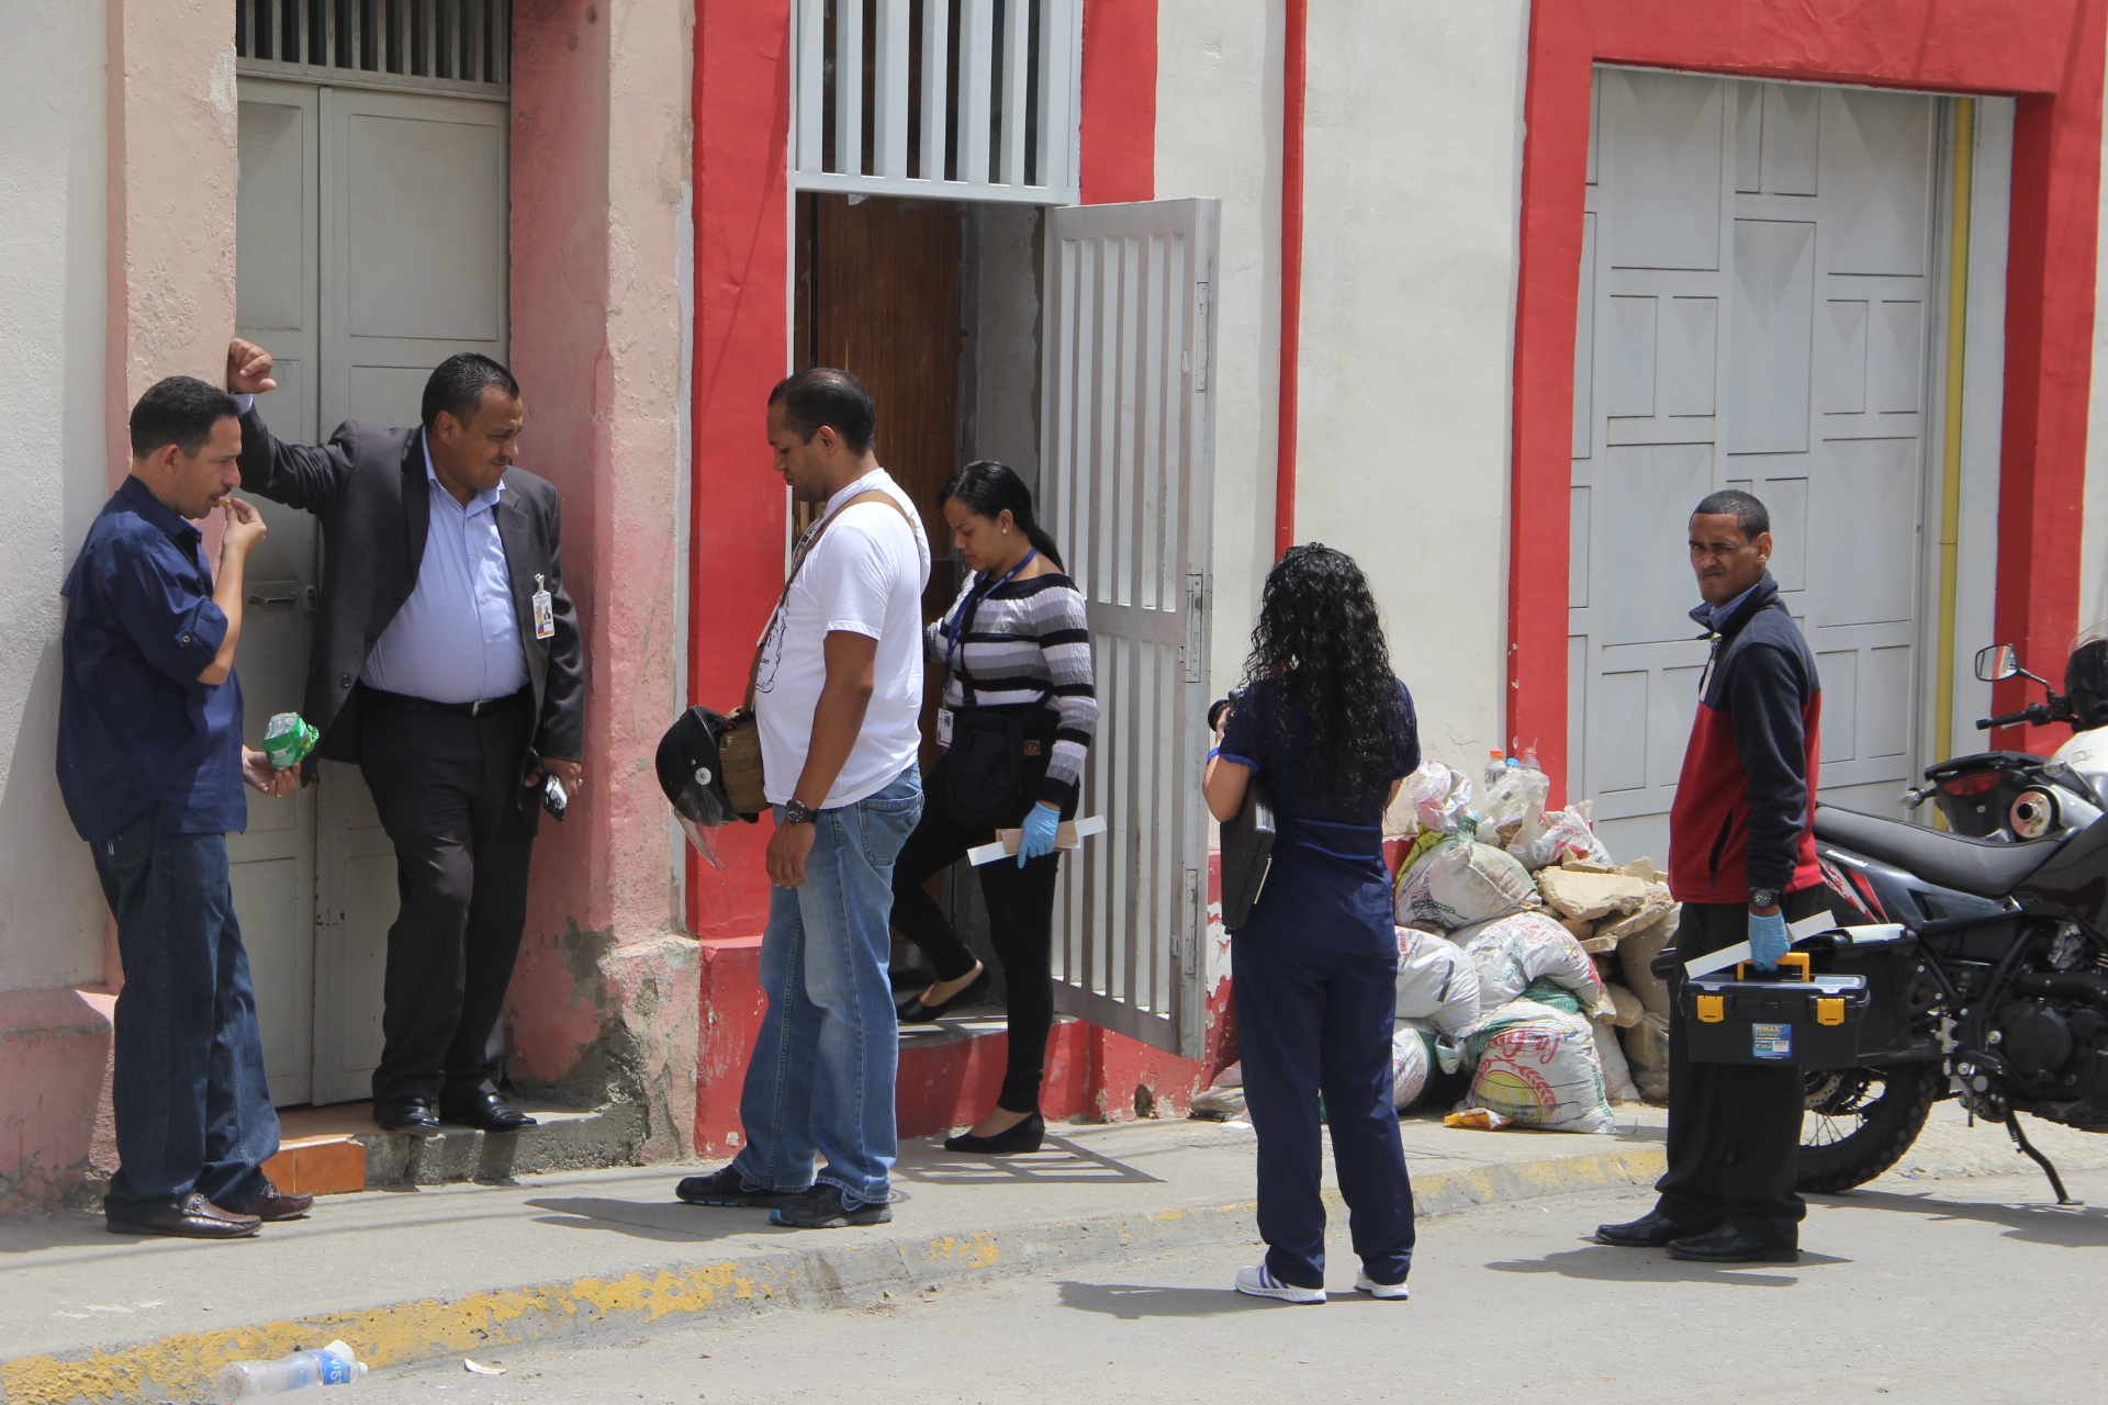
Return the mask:
<path id="1" fill-rule="evenodd" d="M 1788 923 L 1821 912 L 1823 887 L 1788 893 Z M 1691 961 L 1745 942 L 1743 904 L 1684 904 L 1676 956 Z M 1670 982 L 1682 990 L 1682 975 Z M 1670 1169 L 1655 1182 L 1657 1209 L 1693 1234 L 1718 1224 L 1794 1247 L 1809 1213 L 1796 1194 L 1800 1121 L 1807 1081 L 1798 1068 L 1758 1064 L 1693 1064 L 1684 1017 L 1670 1015 Z"/>

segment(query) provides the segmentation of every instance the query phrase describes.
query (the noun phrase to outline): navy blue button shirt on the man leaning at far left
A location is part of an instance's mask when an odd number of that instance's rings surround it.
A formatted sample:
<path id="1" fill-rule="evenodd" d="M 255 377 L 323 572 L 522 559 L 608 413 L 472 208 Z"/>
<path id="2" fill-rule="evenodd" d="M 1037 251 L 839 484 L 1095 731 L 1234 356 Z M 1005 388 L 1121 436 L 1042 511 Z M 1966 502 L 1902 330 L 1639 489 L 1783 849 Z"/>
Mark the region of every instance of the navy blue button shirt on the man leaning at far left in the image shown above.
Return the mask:
<path id="1" fill-rule="evenodd" d="M 242 685 L 198 682 L 228 636 L 198 529 L 126 478 L 61 594 L 59 792 L 91 845 L 150 809 L 173 834 L 238 834 Z"/>

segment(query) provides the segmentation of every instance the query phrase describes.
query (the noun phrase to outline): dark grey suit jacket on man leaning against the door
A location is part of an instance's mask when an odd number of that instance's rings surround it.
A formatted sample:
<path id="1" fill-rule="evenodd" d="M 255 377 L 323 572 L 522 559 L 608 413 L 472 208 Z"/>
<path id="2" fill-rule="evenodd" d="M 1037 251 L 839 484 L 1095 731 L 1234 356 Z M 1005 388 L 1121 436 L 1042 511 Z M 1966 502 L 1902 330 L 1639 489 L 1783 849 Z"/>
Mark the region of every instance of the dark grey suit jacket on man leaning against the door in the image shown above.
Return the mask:
<path id="1" fill-rule="evenodd" d="M 255 407 L 242 415 L 242 489 L 323 522 L 323 605 L 308 657 L 304 716 L 320 729 L 314 756 L 358 760 L 358 674 L 373 642 L 417 586 L 432 493 L 424 476 L 424 430 L 384 430 L 346 419 L 327 444 L 285 444 Z M 580 666 L 578 615 L 563 588 L 563 499 L 521 468 L 506 472 L 497 499 L 497 537 L 512 577 L 512 611 L 533 685 L 533 748 L 542 756 L 582 760 L 586 687 Z M 533 590 L 542 577 L 552 596 L 557 634 L 533 636 Z M 523 758 L 525 760 L 525 758 Z M 314 758 L 306 763 L 314 775 Z M 533 824 L 523 790 L 523 809 Z"/>

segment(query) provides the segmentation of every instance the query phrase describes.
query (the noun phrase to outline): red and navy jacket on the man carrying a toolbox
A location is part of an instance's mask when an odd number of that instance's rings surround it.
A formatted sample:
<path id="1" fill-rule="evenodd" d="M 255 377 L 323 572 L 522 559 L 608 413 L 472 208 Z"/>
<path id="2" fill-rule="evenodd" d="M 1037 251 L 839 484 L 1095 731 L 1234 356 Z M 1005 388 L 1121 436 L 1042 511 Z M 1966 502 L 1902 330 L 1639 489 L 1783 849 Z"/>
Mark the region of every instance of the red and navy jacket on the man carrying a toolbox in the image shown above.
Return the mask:
<path id="1" fill-rule="evenodd" d="M 1815 655 L 1767 573 L 1712 630 L 1684 771 L 1670 809 L 1670 891 L 1678 902 L 1748 904 L 1821 883 L 1815 767 L 1823 693 Z"/>

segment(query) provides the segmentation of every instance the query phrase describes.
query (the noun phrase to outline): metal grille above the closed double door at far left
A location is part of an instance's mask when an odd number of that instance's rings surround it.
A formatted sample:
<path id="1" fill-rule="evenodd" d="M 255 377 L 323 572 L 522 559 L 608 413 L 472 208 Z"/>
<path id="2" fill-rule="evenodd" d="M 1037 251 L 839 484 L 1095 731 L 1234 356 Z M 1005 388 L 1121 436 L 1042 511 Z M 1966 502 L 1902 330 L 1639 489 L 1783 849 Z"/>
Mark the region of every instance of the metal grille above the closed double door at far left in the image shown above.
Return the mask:
<path id="1" fill-rule="evenodd" d="M 506 0 L 236 0 L 242 72 L 504 95 Z"/>

